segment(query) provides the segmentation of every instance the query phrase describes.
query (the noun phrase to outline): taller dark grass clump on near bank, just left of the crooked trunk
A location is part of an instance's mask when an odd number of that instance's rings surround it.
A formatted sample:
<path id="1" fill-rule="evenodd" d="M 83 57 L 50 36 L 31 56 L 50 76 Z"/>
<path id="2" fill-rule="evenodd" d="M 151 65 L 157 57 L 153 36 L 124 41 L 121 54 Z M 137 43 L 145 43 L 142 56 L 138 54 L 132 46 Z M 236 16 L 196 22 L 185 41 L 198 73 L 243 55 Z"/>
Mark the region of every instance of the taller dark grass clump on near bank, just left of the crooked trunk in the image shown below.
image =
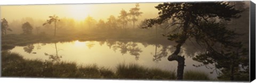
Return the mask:
<path id="1" fill-rule="evenodd" d="M 175 72 L 145 68 L 138 64 L 118 64 L 116 75 L 122 79 L 175 79 Z"/>

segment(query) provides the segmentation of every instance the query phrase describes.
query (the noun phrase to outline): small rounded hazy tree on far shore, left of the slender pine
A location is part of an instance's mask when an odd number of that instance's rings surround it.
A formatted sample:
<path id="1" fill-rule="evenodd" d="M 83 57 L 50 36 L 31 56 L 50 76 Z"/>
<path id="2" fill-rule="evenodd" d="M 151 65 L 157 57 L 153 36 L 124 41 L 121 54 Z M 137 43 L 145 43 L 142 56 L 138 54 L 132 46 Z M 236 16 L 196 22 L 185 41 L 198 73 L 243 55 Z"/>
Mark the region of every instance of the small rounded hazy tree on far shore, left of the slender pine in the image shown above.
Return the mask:
<path id="1" fill-rule="evenodd" d="M 32 34 L 33 27 L 29 22 L 22 24 L 23 34 Z"/>

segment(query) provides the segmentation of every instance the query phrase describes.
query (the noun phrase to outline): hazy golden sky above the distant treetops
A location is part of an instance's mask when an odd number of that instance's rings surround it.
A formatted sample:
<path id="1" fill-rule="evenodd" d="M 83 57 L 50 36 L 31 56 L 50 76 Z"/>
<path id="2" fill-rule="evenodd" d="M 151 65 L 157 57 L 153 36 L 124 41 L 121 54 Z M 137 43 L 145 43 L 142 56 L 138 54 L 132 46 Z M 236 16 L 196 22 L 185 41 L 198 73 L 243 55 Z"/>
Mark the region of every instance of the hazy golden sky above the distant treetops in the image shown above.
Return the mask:
<path id="1" fill-rule="evenodd" d="M 157 15 L 159 3 L 140 3 L 141 18 Z M 60 18 L 68 17 L 77 21 L 84 20 L 88 15 L 95 20 L 107 20 L 110 15 L 118 16 L 122 8 L 129 12 L 135 7 L 135 3 L 115 3 L 115 4 L 58 4 L 58 5 L 1 5 L 1 19 L 20 20 L 25 17 L 46 20 L 53 14 Z M 149 17 L 152 18 L 152 17 Z"/>

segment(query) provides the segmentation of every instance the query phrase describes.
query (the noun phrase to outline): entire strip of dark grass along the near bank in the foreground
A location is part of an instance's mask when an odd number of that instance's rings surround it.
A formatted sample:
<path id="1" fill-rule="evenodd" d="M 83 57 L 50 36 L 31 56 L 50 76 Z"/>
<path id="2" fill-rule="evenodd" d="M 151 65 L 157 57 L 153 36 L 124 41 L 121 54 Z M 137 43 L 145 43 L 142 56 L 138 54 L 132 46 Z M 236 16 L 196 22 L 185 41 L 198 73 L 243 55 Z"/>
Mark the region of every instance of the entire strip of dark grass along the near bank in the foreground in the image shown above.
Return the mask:
<path id="1" fill-rule="evenodd" d="M 185 79 L 206 80 L 206 78 L 201 79 L 205 75 L 200 73 L 185 72 Z M 9 51 L 2 51 L 2 76 L 155 80 L 175 80 L 176 78 L 174 71 L 146 68 L 135 63 L 120 63 L 115 70 L 111 70 L 98 67 L 96 64 L 82 66 L 75 62 L 23 59 L 20 54 Z"/>

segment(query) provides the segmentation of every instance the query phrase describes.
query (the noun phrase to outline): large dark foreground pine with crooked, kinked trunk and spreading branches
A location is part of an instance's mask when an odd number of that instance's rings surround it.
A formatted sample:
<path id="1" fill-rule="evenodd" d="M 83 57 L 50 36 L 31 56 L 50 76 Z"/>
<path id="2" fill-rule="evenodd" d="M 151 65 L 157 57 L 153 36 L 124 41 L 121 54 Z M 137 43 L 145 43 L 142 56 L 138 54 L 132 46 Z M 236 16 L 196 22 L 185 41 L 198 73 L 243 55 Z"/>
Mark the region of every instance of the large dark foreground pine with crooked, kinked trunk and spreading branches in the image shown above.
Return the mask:
<path id="1" fill-rule="evenodd" d="M 166 34 L 169 40 L 178 43 L 176 50 L 167 58 L 169 61 L 178 61 L 177 79 L 183 79 L 183 69 L 185 58 L 179 56 L 181 46 L 187 39 L 195 38 L 197 43 L 204 44 L 206 47 L 213 47 L 214 43 L 220 43 L 227 47 L 233 45 L 235 33 L 227 30 L 218 20 L 238 18 L 238 11 L 228 2 L 214 3 L 163 3 L 156 6 L 160 11 L 156 19 L 147 20 L 147 27 L 161 24 L 171 20 L 168 26 L 178 25 L 173 33 Z M 214 20 L 218 19 L 218 20 Z"/>

